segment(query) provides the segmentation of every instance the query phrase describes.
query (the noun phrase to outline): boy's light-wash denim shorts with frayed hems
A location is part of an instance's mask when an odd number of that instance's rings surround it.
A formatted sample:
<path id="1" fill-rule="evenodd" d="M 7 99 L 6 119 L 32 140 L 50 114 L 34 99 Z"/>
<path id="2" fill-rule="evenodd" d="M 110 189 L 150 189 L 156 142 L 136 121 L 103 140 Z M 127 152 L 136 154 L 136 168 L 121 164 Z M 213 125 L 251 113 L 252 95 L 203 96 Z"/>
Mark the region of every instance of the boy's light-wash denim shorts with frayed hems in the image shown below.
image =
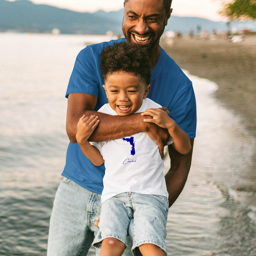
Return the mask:
<path id="1" fill-rule="evenodd" d="M 141 244 L 156 244 L 167 254 L 165 237 L 169 210 L 168 198 L 125 192 L 104 201 L 101 205 L 99 232 L 93 245 L 99 248 L 103 239 L 116 238 L 126 246 L 129 231 L 133 253 Z M 133 225 L 129 225 L 133 219 Z"/>

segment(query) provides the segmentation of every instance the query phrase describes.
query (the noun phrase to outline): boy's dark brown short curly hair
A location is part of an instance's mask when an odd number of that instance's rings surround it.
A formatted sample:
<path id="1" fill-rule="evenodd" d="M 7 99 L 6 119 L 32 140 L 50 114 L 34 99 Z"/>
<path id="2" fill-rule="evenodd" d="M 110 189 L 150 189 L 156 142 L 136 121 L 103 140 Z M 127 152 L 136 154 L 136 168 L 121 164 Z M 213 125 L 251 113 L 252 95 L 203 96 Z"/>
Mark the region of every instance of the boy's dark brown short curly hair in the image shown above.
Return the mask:
<path id="1" fill-rule="evenodd" d="M 127 42 L 114 43 L 103 49 L 100 54 L 101 75 L 107 76 L 117 71 L 125 71 L 140 76 L 146 85 L 150 84 L 150 61 L 146 49 Z"/>

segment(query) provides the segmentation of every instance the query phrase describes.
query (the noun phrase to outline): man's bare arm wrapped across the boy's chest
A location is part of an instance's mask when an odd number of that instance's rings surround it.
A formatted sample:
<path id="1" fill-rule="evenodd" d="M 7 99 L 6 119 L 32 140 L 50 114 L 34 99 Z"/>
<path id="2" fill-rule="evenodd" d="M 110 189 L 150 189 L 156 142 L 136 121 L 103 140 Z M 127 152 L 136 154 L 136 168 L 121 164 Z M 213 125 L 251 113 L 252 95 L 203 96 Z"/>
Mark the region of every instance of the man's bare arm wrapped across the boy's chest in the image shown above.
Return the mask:
<path id="1" fill-rule="evenodd" d="M 160 154 L 163 157 L 163 147 L 169 138 L 166 129 L 160 128 L 154 123 L 143 122 L 145 116 L 141 116 L 140 113 L 128 116 L 111 116 L 96 112 L 94 111 L 96 103 L 96 96 L 83 93 L 69 94 L 66 130 L 72 143 L 76 143 L 75 135 L 79 119 L 84 114 L 86 116 L 96 115 L 100 122 L 90 136 L 90 141 L 107 141 L 145 132 L 158 144 Z"/>

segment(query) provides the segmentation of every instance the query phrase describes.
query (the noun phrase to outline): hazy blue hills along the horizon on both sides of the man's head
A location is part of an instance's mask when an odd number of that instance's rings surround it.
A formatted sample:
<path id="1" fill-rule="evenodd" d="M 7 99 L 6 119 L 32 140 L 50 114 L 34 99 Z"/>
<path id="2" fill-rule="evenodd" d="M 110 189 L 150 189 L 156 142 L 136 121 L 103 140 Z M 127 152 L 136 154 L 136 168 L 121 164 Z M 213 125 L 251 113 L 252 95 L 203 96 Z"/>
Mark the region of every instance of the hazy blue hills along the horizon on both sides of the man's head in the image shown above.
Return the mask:
<path id="1" fill-rule="evenodd" d="M 63 34 L 106 34 L 112 31 L 116 35 L 122 35 L 123 11 L 116 12 L 73 12 L 45 4 L 34 4 L 29 0 L 16 0 L 10 2 L 0 0 L 0 31 L 18 32 L 51 32 L 54 28 Z M 250 30 L 256 30 L 256 22 L 236 23 L 238 28 L 245 26 Z M 249 26 L 249 27 L 248 27 Z M 196 17 L 171 16 L 167 30 L 189 33 L 205 29 L 211 32 L 227 31 L 225 22 L 213 22 Z"/>

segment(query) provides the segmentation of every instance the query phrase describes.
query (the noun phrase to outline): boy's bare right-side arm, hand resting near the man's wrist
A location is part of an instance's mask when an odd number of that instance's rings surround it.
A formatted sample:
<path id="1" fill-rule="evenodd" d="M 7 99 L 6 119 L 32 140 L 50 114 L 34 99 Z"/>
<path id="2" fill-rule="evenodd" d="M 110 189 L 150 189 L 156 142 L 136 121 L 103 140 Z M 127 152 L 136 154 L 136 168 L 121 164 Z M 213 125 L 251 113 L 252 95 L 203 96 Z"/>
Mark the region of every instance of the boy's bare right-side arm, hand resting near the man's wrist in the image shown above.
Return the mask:
<path id="1" fill-rule="evenodd" d="M 173 146 L 179 153 L 186 155 L 190 152 L 191 143 L 188 134 L 165 111 L 152 108 L 147 109 L 141 115 L 152 116 L 152 119 L 144 119 L 144 122 L 153 122 L 162 128 L 168 129 L 173 140 Z"/>

